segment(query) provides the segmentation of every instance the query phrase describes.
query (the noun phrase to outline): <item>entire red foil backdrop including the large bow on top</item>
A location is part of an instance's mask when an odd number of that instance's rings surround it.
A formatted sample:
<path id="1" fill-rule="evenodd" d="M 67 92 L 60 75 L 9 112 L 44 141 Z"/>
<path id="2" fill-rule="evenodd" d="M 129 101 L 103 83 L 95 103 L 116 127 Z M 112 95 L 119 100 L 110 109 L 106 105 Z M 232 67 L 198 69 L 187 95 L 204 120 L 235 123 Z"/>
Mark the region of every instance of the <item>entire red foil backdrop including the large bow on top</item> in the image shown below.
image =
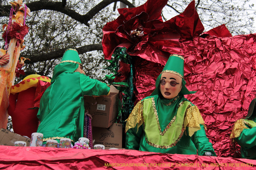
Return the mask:
<path id="1" fill-rule="evenodd" d="M 105 58 L 110 59 L 116 47 L 127 48 L 135 60 L 136 103 L 153 92 L 169 55 L 183 55 L 186 86 L 197 91 L 185 97 L 200 109 L 216 154 L 236 157 L 239 146 L 231 144 L 229 136 L 256 93 L 256 34 L 232 37 L 225 25 L 202 34 L 195 1 L 163 22 L 159 11 L 166 3 L 148 0 L 140 7 L 119 9 L 120 16 L 103 28 Z M 132 34 L 136 28 L 138 34 Z"/>

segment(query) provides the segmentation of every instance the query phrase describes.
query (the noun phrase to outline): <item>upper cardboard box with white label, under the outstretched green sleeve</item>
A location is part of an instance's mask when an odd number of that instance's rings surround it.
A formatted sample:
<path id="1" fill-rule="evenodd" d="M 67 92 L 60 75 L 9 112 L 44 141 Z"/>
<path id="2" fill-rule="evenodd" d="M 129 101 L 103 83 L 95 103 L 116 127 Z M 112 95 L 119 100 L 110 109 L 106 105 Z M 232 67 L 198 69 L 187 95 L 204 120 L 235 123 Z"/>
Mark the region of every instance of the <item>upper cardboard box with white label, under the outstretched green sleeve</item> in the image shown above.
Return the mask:
<path id="1" fill-rule="evenodd" d="M 84 97 L 85 111 L 88 110 L 91 115 L 95 113 L 92 119 L 92 126 L 108 128 L 116 122 L 119 100 L 118 92 L 114 86 L 110 86 L 110 93 L 106 97 Z"/>

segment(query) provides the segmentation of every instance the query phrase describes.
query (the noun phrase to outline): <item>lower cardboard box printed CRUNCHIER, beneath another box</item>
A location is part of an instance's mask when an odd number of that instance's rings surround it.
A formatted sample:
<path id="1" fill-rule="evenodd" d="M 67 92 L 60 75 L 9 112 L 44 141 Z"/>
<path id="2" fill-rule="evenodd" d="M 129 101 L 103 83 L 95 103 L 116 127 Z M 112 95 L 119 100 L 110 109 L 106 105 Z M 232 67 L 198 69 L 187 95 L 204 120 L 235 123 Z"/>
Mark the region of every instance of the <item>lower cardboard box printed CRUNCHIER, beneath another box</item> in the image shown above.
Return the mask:
<path id="1" fill-rule="evenodd" d="M 102 144 L 105 147 L 122 148 L 123 124 L 114 123 L 106 128 L 92 127 L 92 139 L 94 144 Z"/>

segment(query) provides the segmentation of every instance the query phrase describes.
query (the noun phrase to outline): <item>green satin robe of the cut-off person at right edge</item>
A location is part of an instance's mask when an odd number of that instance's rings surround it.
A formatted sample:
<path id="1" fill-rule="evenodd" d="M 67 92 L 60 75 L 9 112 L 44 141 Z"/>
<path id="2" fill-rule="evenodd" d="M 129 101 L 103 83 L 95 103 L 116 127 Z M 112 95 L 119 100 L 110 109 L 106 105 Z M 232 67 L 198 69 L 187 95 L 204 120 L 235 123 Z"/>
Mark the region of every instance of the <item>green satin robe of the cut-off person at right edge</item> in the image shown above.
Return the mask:
<path id="1" fill-rule="evenodd" d="M 246 121 L 246 119 L 245 119 Z M 251 126 L 248 126 L 250 129 L 244 129 L 239 137 L 236 137 L 236 142 L 241 146 L 241 158 L 244 159 L 256 159 L 256 118 L 252 118 L 254 123 Z"/>

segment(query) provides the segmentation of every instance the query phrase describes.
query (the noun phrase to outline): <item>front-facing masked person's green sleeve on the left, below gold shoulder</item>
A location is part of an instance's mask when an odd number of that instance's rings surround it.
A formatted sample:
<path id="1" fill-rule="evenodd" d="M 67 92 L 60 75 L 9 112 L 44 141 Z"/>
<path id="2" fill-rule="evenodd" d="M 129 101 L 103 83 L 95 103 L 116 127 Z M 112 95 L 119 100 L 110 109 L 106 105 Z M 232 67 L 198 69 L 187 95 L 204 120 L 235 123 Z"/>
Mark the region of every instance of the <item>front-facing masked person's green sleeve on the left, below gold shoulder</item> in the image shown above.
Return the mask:
<path id="1" fill-rule="evenodd" d="M 134 128 L 128 129 L 125 137 L 125 149 L 139 150 L 140 139 L 143 133 L 142 126 L 137 132 L 137 125 Z"/>

